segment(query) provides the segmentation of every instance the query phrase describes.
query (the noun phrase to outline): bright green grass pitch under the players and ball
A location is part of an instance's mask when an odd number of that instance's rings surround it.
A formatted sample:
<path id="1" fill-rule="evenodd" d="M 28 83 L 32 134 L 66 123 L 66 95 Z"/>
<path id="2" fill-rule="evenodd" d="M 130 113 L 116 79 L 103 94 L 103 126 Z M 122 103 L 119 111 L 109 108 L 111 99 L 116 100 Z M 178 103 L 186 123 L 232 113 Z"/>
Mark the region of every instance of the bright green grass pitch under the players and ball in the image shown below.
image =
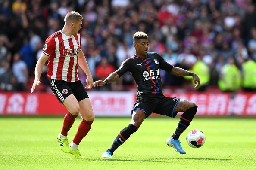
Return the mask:
<path id="1" fill-rule="evenodd" d="M 0 169 L 256 169 L 255 118 L 194 118 L 181 135 L 181 155 L 166 146 L 179 118 L 147 118 L 121 146 L 113 159 L 103 159 L 130 118 L 96 118 L 79 149 L 84 159 L 64 154 L 56 142 L 63 118 L 0 117 Z M 75 135 L 79 118 L 69 131 Z M 206 134 L 202 148 L 187 145 L 192 129 Z"/>

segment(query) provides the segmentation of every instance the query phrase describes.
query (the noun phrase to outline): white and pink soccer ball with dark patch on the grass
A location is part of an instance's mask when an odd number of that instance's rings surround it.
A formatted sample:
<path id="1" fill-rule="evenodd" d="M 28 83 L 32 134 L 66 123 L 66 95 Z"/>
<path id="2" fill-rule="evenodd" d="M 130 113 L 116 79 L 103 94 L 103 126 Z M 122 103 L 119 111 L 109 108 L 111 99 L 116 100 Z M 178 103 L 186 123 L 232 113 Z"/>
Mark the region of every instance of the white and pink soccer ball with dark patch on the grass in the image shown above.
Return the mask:
<path id="1" fill-rule="evenodd" d="M 192 148 L 200 148 L 205 142 L 205 135 L 202 131 L 192 130 L 187 134 L 187 144 Z"/>

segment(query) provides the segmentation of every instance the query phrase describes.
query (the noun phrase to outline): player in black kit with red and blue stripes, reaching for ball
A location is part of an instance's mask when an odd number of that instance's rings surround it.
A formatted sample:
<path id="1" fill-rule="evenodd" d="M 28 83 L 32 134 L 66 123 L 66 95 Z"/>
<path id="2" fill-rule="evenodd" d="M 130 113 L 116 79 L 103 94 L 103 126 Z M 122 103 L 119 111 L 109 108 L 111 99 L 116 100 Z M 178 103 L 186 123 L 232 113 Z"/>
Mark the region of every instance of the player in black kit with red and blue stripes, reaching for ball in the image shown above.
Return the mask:
<path id="1" fill-rule="evenodd" d="M 194 118 L 197 112 L 197 105 L 181 98 L 165 97 L 162 94 L 162 82 L 159 69 L 177 76 L 193 76 L 196 84 L 195 88 L 200 85 L 200 79 L 196 73 L 191 73 L 168 64 L 156 52 L 147 52 L 149 41 L 146 33 L 135 33 L 133 36 L 133 45 L 136 50 L 134 56 L 126 59 L 121 67 L 109 74 L 104 81 L 99 80 L 94 82 L 94 86 L 103 86 L 116 81 L 125 72 L 129 71 L 137 83 L 137 99 L 131 111 L 132 118 L 130 124 L 120 131 L 113 144 L 102 154 L 102 157 L 112 158 L 113 152 L 122 145 L 131 134 L 138 130 L 144 119 L 152 112 L 167 115 L 172 118 L 177 115 L 177 112 L 184 112 L 181 115 L 178 127 L 172 136 L 167 139 L 166 143 L 168 146 L 172 146 L 177 152 L 186 154 L 178 138 Z"/>

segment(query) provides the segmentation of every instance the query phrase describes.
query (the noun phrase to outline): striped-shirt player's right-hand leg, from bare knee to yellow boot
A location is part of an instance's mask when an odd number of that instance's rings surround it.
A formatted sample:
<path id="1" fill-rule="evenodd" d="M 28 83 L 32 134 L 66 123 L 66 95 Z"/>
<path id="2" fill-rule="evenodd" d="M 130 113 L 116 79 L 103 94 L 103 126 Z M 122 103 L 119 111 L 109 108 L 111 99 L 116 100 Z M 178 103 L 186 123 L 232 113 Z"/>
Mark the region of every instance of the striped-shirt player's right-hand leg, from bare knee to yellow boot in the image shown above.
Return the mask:
<path id="1" fill-rule="evenodd" d="M 91 124 L 94 121 L 94 112 L 91 106 L 91 102 L 89 98 L 85 98 L 78 102 L 80 106 L 80 114 L 82 116 L 82 120 L 78 125 L 78 130 L 73 138 L 72 142 L 69 144 L 70 151 L 77 158 L 81 157 L 80 151 L 78 150 L 78 145 L 81 140 L 88 134 L 91 129 Z"/>

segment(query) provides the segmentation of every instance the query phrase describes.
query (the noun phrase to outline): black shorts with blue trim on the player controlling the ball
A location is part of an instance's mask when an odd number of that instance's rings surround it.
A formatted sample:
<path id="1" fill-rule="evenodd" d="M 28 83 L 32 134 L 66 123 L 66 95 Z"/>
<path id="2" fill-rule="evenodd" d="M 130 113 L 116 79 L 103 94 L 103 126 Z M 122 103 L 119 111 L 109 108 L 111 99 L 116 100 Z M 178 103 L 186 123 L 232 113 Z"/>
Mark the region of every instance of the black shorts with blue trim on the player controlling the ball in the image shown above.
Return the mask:
<path id="1" fill-rule="evenodd" d="M 181 98 L 166 97 L 163 94 L 142 95 L 137 97 L 131 114 L 133 110 L 140 109 L 145 112 L 146 118 L 150 116 L 152 112 L 174 118 L 177 115 L 174 109 L 180 100 Z"/>

